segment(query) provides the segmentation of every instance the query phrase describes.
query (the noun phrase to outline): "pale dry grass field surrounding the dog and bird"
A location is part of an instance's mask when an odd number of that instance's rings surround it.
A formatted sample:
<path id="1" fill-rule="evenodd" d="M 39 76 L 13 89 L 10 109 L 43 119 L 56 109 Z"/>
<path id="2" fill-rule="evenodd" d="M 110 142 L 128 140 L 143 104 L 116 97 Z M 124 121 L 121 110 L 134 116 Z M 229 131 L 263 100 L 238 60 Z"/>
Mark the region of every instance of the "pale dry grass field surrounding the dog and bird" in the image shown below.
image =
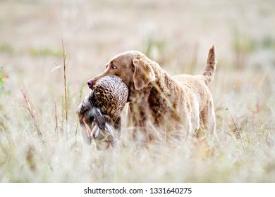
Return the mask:
<path id="1" fill-rule="evenodd" d="M 0 5 L 0 182 L 275 182 L 274 1 Z M 171 75 L 199 74 L 213 43 L 219 141 L 137 148 L 123 125 L 126 148 L 83 143 L 75 111 L 110 58 L 135 49 Z"/>

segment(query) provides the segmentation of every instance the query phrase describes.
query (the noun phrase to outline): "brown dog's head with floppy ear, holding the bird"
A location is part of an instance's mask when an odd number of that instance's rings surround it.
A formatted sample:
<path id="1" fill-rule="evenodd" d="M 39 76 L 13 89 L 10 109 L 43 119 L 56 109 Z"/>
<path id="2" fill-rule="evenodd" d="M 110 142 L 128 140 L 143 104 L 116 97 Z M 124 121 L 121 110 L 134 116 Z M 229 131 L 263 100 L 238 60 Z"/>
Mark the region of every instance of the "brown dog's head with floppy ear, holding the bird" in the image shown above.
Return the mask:
<path id="1" fill-rule="evenodd" d="M 126 51 L 118 54 L 105 65 L 106 70 L 87 82 L 90 89 L 102 77 L 116 75 L 123 80 L 128 89 L 140 90 L 155 80 L 152 61 L 139 51 Z"/>

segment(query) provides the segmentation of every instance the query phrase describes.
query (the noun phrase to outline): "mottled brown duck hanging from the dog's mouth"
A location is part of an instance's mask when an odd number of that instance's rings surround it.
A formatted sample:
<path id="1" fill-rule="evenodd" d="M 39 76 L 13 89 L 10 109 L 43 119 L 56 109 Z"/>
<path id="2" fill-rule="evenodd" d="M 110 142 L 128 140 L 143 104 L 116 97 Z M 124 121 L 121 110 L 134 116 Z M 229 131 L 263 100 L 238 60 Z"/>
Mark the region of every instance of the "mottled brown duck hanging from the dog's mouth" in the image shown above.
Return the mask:
<path id="1" fill-rule="evenodd" d="M 121 111 L 128 99 L 128 87 L 115 75 L 102 77 L 78 106 L 82 135 L 98 149 L 116 146 L 121 129 Z M 117 134 L 118 133 L 118 134 Z"/>

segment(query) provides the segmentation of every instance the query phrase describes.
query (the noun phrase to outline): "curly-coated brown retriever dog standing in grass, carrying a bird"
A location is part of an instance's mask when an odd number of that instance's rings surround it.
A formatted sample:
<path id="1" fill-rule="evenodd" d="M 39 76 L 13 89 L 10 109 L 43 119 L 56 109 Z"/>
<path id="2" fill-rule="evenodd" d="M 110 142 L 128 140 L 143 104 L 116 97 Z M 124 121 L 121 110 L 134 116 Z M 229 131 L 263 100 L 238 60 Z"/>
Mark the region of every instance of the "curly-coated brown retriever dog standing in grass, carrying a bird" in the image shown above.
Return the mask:
<path id="1" fill-rule="evenodd" d="M 118 54 L 106 64 L 106 70 L 87 82 L 94 84 L 106 75 L 120 77 L 129 89 L 130 122 L 148 134 L 149 124 L 166 131 L 185 129 L 187 135 L 202 128 L 215 132 L 215 113 L 208 84 L 216 68 L 214 46 L 209 49 L 202 75 L 170 77 L 158 63 L 139 51 Z"/>

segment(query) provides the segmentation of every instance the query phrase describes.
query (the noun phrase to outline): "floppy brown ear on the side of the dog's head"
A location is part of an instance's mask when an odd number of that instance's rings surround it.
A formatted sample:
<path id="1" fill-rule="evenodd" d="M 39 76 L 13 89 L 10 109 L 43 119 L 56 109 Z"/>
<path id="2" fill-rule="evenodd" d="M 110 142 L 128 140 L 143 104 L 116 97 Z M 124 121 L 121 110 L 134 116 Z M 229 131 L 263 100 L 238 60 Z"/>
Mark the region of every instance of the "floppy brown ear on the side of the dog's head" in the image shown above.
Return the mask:
<path id="1" fill-rule="evenodd" d="M 133 65 L 135 66 L 134 72 L 134 85 L 135 89 L 140 90 L 155 80 L 154 70 L 143 58 L 133 59 Z"/>

